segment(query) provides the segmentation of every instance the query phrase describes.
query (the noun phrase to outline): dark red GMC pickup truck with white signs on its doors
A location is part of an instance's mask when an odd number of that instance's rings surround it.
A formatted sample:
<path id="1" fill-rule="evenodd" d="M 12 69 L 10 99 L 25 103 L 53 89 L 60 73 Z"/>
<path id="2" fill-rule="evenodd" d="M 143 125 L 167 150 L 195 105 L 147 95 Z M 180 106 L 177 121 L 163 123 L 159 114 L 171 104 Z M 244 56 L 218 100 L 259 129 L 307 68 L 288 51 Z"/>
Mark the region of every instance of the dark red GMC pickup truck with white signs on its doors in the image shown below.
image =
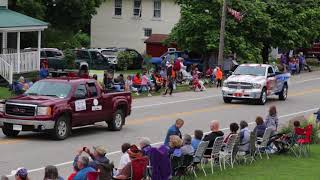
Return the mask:
<path id="1" fill-rule="evenodd" d="M 54 78 L 0 103 L 0 126 L 8 137 L 20 131 L 49 132 L 66 139 L 72 127 L 105 121 L 119 131 L 131 113 L 129 92 L 104 92 L 94 79 Z"/>

